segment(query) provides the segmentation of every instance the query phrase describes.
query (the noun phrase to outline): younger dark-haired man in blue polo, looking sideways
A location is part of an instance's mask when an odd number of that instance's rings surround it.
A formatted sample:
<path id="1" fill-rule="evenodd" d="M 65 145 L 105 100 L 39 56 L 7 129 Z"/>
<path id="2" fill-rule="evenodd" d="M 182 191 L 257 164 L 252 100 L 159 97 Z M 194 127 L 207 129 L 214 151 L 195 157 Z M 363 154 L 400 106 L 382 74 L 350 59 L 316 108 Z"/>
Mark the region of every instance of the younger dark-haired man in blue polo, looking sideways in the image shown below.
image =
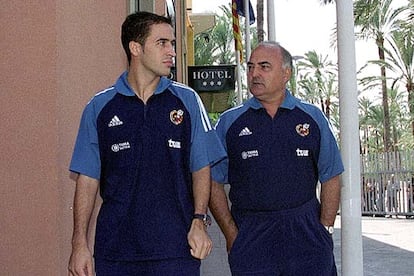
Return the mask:
<path id="1" fill-rule="evenodd" d="M 101 275 L 199 275 L 210 165 L 225 156 L 200 98 L 173 82 L 170 19 L 129 15 L 122 44 L 129 68 L 87 104 L 70 170 L 79 174 L 69 275 L 93 275 L 87 243 L 97 191 L 95 237 Z"/>

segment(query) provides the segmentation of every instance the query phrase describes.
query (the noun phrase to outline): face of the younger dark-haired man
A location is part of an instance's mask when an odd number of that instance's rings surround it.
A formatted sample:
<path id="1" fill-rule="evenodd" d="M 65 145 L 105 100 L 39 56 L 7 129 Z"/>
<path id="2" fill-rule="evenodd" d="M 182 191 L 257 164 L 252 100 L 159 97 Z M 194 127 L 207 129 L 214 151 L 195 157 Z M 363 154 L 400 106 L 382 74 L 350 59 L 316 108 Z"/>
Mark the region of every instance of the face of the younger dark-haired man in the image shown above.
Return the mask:
<path id="1" fill-rule="evenodd" d="M 141 68 L 156 76 L 168 76 L 176 56 L 174 45 L 174 31 L 169 24 L 153 25 L 145 44 L 141 45 Z"/>

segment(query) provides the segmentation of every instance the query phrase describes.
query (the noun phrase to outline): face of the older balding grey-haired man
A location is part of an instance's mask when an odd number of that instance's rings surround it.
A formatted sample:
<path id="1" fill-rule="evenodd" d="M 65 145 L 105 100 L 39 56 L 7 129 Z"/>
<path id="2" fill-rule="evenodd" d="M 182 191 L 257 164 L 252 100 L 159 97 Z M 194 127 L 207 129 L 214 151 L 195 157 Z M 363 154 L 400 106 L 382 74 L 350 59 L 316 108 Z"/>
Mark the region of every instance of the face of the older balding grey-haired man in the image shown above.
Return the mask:
<path id="1" fill-rule="evenodd" d="M 250 92 L 259 100 L 271 100 L 284 94 L 290 70 L 282 68 L 279 48 L 262 45 L 251 54 L 247 63 L 247 82 Z"/>

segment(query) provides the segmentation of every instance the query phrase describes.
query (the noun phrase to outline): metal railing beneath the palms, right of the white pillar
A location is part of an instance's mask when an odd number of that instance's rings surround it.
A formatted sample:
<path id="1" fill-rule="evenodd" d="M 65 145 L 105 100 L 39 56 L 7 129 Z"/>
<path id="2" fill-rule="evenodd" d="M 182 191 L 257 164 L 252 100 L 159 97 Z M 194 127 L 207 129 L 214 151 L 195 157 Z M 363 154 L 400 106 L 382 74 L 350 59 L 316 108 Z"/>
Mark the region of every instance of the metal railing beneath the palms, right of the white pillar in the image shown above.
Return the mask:
<path id="1" fill-rule="evenodd" d="M 362 214 L 414 218 L 414 151 L 361 155 Z"/>

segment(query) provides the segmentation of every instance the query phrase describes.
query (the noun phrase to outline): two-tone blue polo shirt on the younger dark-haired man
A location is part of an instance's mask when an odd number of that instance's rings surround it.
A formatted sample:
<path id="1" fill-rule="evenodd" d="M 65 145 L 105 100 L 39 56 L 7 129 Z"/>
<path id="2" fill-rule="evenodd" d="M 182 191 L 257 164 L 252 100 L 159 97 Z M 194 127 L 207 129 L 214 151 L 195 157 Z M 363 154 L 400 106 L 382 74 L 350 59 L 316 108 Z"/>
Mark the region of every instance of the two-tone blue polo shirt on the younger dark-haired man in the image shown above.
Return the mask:
<path id="1" fill-rule="evenodd" d="M 95 257 L 188 257 L 191 172 L 225 156 L 198 95 L 162 77 L 144 104 L 123 73 L 80 123 L 70 170 L 100 180 Z"/>

